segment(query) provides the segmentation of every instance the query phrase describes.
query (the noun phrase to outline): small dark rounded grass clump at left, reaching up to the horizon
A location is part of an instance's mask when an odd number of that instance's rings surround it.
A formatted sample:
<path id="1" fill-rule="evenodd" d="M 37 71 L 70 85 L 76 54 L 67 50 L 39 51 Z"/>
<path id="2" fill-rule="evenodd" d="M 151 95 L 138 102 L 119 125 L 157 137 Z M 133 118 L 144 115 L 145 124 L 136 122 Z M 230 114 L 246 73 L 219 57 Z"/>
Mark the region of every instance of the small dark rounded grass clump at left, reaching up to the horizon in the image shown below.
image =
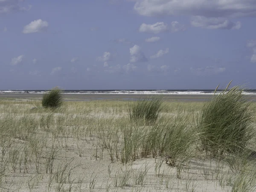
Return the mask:
<path id="1" fill-rule="evenodd" d="M 58 108 L 63 104 L 61 89 L 58 87 L 52 88 L 48 93 L 44 93 L 42 106 L 47 108 Z"/>

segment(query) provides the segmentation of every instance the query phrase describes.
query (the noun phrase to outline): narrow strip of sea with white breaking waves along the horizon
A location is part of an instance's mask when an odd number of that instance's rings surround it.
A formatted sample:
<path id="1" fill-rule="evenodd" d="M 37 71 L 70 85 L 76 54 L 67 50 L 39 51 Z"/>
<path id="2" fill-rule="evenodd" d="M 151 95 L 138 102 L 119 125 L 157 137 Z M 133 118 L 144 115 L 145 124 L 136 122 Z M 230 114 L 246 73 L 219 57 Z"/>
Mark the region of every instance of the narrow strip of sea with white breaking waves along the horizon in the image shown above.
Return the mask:
<path id="1" fill-rule="evenodd" d="M 215 90 L 63 90 L 65 94 L 162 94 L 162 95 L 212 95 Z M 220 93 L 221 90 L 216 93 Z M 0 90 L 0 93 L 45 93 L 45 90 Z M 256 95 L 256 90 L 244 90 L 246 95 Z"/>

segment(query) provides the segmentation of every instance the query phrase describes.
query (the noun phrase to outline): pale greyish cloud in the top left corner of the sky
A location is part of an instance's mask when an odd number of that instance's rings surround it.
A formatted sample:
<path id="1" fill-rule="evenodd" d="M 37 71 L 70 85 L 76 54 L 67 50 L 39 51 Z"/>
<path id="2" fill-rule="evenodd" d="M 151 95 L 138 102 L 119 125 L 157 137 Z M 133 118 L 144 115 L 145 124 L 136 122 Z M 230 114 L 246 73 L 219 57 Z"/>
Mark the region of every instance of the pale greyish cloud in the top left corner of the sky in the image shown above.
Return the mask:
<path id="1" fill-rule="evenodd" d="M 23 0 L 0 0 L 0 14 L 7 14 L 10 12 L 17 11 L 29 11 L 32 6 L 28 6 L 28 8 L 20 6 Z"/>

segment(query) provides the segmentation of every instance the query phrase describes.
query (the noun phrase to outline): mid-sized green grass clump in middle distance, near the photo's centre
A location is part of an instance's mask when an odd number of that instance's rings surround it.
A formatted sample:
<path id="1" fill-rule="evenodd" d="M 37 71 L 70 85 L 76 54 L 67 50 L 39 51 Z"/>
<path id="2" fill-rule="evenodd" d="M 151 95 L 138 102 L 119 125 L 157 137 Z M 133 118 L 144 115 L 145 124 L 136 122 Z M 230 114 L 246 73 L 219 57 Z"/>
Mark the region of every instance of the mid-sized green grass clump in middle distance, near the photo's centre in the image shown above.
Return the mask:
<path id="1" fill-rule="evenodd" d="M 163 98 L 161 96 L 148 96 L 129 103 L 128 112 L 131 120 L 144 120 L 154 123 L 162 109 Z"/>

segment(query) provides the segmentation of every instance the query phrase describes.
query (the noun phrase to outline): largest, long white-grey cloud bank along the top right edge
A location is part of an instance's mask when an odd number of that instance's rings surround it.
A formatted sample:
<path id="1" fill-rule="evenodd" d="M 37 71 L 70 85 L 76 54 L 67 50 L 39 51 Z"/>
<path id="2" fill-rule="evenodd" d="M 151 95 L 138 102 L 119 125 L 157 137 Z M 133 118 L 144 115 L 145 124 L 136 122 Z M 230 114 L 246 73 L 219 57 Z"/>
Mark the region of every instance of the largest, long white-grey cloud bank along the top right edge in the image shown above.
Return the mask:
<path id="1" fill-rule="evenodd" d="M 134 10 L 144 16 L 255 16 L 255 0 L 136 0 Z"/>

